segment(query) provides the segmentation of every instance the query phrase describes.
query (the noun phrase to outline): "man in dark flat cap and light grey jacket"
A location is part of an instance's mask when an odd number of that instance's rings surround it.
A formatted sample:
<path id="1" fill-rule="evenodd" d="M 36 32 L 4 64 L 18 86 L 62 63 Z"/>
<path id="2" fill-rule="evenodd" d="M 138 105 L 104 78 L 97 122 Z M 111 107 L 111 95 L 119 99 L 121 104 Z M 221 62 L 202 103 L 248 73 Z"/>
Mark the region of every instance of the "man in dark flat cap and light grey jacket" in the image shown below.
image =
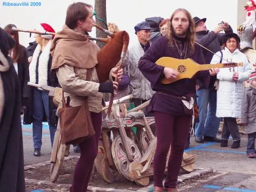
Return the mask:
<path id="1" fill-rule="evenodd" d="M 135 27 L 135 34 L 138 40 L 134 46 L 129 49 L 129 75 L 131 79 L 130 92 L 133 94 L 132 102 L 138 106 L 148 99 L 151 99 L 153 91 L 148 81 L 138 69 L 140 57 L 144 55 L 146 50 L 151 46 L 150 36 L 151 30 L 149 22 L 141 22 Z M 146 110 L 144 111 L 146 115 Z"/>

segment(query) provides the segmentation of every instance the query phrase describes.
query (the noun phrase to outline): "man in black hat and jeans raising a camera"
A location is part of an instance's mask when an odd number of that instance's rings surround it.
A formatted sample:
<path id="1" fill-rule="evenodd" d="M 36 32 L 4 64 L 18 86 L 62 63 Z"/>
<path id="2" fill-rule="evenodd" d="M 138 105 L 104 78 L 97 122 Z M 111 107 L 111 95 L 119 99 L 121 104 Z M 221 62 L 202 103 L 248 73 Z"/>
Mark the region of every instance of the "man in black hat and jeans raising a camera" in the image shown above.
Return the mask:
<path id="1" fill-rule="evenodd" d="M 225 33 L 233 32 L 232 28 L 225 22 L 218 24 L 213 31 L 209 31 L 205 25 L 206 18 L 194 17 L 193 20 L 196 27 L 197 42 L 214 53 L 220 51 L 221 44 L 223 44 L 225 34 L 220 32 L 223 30 Z M 206 49 L 202 49 L 202 52 L 206 63 L 210 63 L 214 54 Z M 199 106 L 199 122 L 195 126 L 197 143 L 204 141 L 221 142 L 216 137 L 220 118 L 216 117 L 217 92 L 214 87 L 215 81 L 216 76 L 212 76 L 209 89 L 206 89 L 200 81 L 197 82 L 197 104 Z"/>

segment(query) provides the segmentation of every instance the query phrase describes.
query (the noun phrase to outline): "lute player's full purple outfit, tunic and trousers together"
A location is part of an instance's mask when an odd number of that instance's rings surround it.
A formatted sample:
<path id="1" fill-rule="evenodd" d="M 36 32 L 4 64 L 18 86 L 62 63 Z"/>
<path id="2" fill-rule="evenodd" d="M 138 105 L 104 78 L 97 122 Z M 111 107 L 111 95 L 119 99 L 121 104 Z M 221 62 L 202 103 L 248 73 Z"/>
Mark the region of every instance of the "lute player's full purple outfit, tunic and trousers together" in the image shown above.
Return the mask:
<path id="1" fill-rule="evenodd" d="M 174 37 L 177 47 L 170 46 L 166 36 L 160 37 L 145 52 L 139 61 L 139 70 L 151 82 L 153 95 L 148 110 L 154 112 L 157 134 L 157 147 L 154 157 L 154 185 L 163 187 L 164 169 L 166 156 L 171 145 L 171 152 L 168 161 L 167 178 L 165 188 L 176 188 L 178 173 L 181 167 L 185 142 L 189 132 L 193 110 L 187 111 L 181 97 L 187 99 L 196 95 L 196 79 L 208 86 L 209 72 L 199 72 L 194 78 L 181 79 L 170 84 L 162 84 L 164 67 L 158 66 L 155 62 L 161 57 L 173 57 L 178 59 L 191 58 L 202 64 L 204 57 L 201 48 L 195 45 L 195 52 L 190 54 L 187 39 L 178 36 Z M 180 54 L 179 50 L 185 50 Z"/>

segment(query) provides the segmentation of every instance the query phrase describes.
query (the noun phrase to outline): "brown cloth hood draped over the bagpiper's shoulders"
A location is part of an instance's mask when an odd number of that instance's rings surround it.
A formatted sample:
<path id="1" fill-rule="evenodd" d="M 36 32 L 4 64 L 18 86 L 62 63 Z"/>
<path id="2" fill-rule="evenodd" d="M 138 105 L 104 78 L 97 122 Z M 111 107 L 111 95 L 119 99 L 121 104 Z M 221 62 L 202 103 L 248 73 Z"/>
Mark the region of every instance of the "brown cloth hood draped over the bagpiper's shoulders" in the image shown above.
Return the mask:
<path id="1" fill-rule="evenodd" d="M 99 47 L 86 35 L 77 33 L 67 25 L 55 34 L 51 46 L 52 70 L 67 64 L 90 69 L 98 63 Z"/>

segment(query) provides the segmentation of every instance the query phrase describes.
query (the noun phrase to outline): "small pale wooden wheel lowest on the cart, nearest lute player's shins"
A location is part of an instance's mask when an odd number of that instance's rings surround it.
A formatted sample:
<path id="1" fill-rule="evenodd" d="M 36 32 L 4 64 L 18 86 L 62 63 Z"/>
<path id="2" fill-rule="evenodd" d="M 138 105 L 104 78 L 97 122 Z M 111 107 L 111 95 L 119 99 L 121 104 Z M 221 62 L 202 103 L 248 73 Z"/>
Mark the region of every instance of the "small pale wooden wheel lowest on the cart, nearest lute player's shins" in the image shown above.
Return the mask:
<path id="1" fill-rule="evenodd" d="M 143 166 L 138 163 L 137 161 L 134 161 L 131 163 L 130 167 L 130 173 L 131 173 L 131 177 L 135 177 L 135 175 L 140 175 Z M 138 185 L 143 185 L 146 186 L 148 184 L 150 184 L 150 177 L 143 177 L 140 179 L 133 179 L 135 181 L 135 183 L 137 183 Z"/>

